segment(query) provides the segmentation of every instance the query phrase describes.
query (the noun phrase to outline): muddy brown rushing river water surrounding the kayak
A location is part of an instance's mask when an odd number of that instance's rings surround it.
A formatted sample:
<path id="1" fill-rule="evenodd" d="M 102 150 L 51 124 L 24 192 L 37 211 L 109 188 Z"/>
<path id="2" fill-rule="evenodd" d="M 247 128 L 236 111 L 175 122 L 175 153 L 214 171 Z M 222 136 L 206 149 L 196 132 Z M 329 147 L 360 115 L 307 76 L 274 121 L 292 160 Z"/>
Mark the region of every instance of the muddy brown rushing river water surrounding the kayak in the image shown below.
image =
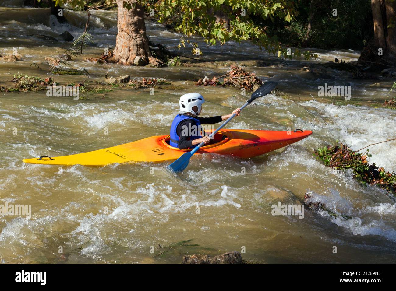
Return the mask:
<path id="1" fill-rule="evenodd" d="M 8 54 L 16 48 L 23 55 L 23 61 L 0 63 L 0 84 L 5 86 L 13 86 L 16 72 L 48 76 L 44 58 L 69 45 L 30 35 L 57 37 L 68 30 L 76 37 L 86 22 L 85 13 L 68 11 L 70 24 L 60 25 L 48 9 L 22 8 L 19 3 L 0 1 L 0 50 Z M 147 26 L 151 40 L 177 51 L 179 34 L 154 22 Z M 154 88 L 154 95 L 147 88 L 114 88 L 83 93 L 80 100 L 47 97 L 46 91 L 0 93 L 0 204 L 32 205 L 30 218 L 0 217 L 1 262 L 164 263 L 181 262 L 185 254 L 217 255 L 232 250 L 246 250 L 245 259 L 269 263 L 394 262 L 394 200 L 373 186 L 361 186 L 350 173 L 325 167 L 312 154 L 315 147 L 336 140 L 358 149 L 394 138 L 396 111 L 371 105 L 385 100 L 392 80 L 354 80 L 337 74 L 320 79 L 301 70 L 335 57 L 356 60 L 358 51 L 312 49 L 319 54 L 316 61 L 254 67 L 255 60 L 275 57 L 249 43 L 207 47 L 202 39 L 194 38 L 201 44 L 203 58 L 215 63 L 160 69 L 109 66 L 84 58 L 114 48 L 115 12 L 92 11 L 89 32 L 94 44 L 83 57 L 70 62 L 86 68 L 89 76 L 53 76 L 57 82 L 77 83 L 85 78 L 90 84 L 104 84 L 109 72 L 109 76 L 167 78 L 171 85 Z M 190 54 L 190 48 L 178 53 Z M 22 162 L 23 158 L 86 152 L 166 134 L 178 111 L 179 97 L 191 91 L 206 99 L 203 116 L 228 114 L 246 101 L 240 90 L 197 87 L 192 82 L 225 74 L 227 61 L 246 65 L 247 71 L 264 80 L 277 81 L 278 89 L 289 95 L 258 99 L 227 128 L 301 128 L 314 133 L 249 160 L 196 156 L 177 176 L 164 168 L 168 163 L 59 169 Z M 381 87 L 370 87 L 376 82 Z M 318 97 L 318 86 L 325 83 L 351 86 L 351 100 Z M 370 147 L 370 161 L 395 171 L 395 146 L 389 142 Z M 303 219 L 271 215 L 272 205 L 301 204 L 307 192 L 353 218 L 343 221 L 308 209 Z M 337 246 L 336 254 L 333 246 Z"/>

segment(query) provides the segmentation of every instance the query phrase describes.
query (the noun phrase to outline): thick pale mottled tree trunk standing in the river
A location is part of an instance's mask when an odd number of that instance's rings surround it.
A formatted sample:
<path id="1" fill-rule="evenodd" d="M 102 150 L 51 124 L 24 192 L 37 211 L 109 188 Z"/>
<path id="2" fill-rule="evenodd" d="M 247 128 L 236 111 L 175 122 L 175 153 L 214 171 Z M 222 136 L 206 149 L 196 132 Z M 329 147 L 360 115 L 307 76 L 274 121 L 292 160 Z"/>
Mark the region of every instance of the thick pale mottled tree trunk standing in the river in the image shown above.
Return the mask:
<path id="1" fill-rule="evenodd" d="M 112 61 L 123 65 L 161 65 L 161 61 L 152 57 L 144 19 L 144 9 L 136 0 L 116 0 L 118 6 L 118 34 Z M 131 10 L 123 3 L 132 4 Z M 133 7 L 133 4 L 135 7 Z"/>

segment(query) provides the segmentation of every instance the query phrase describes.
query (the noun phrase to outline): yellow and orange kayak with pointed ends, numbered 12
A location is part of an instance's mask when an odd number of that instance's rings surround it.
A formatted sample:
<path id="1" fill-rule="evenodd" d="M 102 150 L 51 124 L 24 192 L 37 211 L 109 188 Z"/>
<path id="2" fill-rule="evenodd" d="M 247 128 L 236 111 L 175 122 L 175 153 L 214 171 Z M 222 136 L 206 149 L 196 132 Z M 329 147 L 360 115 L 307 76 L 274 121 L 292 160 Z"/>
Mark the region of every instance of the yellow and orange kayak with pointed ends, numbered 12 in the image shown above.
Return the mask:
<path id="1" fill-rule="evenodd" d="M 242 159 L 260 156 L 272 150 L 291 145 L 305 139 L 312 131 L 272 131 L 223 129 L 216 133 L 208 145 L 196 153 L 213 153 L 234 156 Z M 179 150 L 169 145 L 169 135 L 147 137 L 123 145 L 101 150 L 72 154 L 69 156 L 24 159 L 23 162 L 44 165 L 86 165 L 105 166 L 128 162 L 165 162 L 177 160 L 191 149 Z"/>

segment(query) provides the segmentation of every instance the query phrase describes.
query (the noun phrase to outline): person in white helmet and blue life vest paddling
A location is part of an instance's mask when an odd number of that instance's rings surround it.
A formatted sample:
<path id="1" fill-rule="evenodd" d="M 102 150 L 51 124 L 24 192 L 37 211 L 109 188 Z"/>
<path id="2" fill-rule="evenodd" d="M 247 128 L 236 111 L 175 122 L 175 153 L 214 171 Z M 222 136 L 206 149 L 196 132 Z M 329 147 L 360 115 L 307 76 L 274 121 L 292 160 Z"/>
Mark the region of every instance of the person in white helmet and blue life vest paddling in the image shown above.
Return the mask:
<path id="1" fill-rule="evenodd" d="M 231 114 L 213 117 L 198 117 L 201 114 L 204 97 L 199 93 L 187 93 L 180 97 L 180 113 L 175 116 L 171 125 L 169 144 L 179 149 L 192 148 L 202 142 L 210 142 L 201 130 L 201 124 L 215 124 L 226 120 L 232 114 L 239 116 L 240 108 Z"/>

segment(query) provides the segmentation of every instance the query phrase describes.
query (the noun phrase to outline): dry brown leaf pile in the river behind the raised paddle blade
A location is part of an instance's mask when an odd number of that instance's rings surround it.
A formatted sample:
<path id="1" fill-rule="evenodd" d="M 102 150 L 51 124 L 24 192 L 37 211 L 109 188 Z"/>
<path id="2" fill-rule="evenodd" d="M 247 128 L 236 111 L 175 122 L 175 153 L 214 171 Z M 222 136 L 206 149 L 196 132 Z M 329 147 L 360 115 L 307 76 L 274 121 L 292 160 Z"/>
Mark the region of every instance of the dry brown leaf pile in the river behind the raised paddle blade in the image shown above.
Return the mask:
<path id="1" fill-rule="evenodd" d="M 221 85 L 252 90 L 253 88 L 259 87 L 263 84 L 263 82 L 257 78 L 255 73 L 248 73 L 242 67 L 236 65 L 232 65 L 230 68 L 231 70 L 224 76 L 213 77 L 210 80 L 208 77 L 205 77 L 195 82 L 195 85 Z M 220 78 L 224 78 L 223 83 L 219 81 Z"/>

